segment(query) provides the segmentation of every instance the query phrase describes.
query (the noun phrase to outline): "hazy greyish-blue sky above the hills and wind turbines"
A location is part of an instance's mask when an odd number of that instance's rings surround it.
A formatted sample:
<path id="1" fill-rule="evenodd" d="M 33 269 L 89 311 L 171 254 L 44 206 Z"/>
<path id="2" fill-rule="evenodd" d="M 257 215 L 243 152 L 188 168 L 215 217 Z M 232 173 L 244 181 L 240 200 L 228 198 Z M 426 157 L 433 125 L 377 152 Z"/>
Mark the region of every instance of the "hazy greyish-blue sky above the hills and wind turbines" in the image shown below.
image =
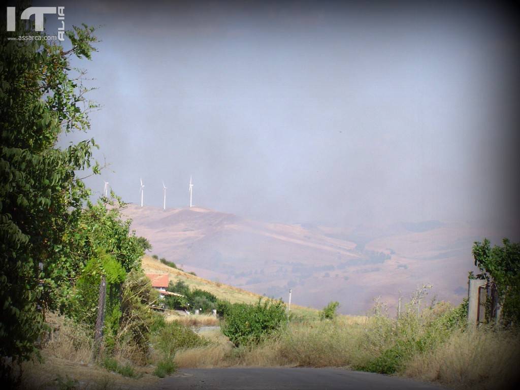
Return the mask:
<path id="1" fill-rule="evenodd" d="M 290 223 L 516 221 L 517 25 L 379 3 L 60 2 L 102 25 L 73 139 L 113 172 L 88 183 L 162 206 L 164 180 L 179 207 L 193 175 L 196 205 Z"/>

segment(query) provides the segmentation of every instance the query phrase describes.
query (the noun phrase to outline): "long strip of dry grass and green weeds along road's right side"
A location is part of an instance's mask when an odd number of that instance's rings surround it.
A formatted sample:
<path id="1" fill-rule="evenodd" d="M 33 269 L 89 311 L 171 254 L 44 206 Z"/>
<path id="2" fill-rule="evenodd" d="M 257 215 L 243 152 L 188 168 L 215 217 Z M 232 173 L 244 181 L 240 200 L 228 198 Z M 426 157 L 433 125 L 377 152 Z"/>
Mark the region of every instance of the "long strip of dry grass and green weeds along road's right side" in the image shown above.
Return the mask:
<path id="1" fill-rule="evenodd" d="M 439 302 L 418 310 L 418 297 L 424 298 L 425 293 L 420 290 L 405 305 L 399 320 L 389 317 L 385 305 L 376 300 L 373 314 L 362 320 L 338 315 L 329 321 L 290 321 L 268 337 L 259 337 L 257 343 L 232 346 L 221 342 L 183 349 L 174 361 L 178 367 L 205 368 L 349 367 L 467 389 L 516 383 L 517 331 L 466 329 L 465 301 L 456 307 Z"/>

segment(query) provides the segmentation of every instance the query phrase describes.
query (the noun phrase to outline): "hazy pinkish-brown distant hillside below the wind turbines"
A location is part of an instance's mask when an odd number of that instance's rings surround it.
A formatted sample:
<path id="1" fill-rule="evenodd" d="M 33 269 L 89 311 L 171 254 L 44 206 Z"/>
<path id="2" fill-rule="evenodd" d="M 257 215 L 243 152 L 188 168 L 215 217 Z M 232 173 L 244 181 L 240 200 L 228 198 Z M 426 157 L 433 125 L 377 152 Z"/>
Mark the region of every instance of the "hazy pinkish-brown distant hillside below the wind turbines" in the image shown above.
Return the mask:
<path id="1" fill-rule="evenodd" d="M 337 229 L 201 207 L 129 205 L 124 214 L 153 253 L 201 277 L 285 301 L 291 288 L 293 303 L 321 308 L 337 300 L 349 314 L 366 313 L 379 295 L 395 304 L 399 291 L 409 295 L 422 283 L 434 284 L 432 297 L 459 302 L 473 269 L 472 243 L 484 237 L 469 225 L 438 221 Z"/>

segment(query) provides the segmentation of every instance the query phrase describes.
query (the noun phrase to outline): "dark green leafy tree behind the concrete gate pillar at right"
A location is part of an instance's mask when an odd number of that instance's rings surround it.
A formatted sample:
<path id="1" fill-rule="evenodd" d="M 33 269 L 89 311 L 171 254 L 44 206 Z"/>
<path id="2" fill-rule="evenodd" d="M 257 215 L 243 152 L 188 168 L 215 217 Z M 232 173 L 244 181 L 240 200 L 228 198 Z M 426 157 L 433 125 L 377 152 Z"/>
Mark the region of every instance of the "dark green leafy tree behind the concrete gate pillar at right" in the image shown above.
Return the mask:
<path id="1" fill-rule="evenodd" d="M 480 270 L 476 277 L 492 280 L 502 302 L 506 322 L 520 323 L 520 243 L 504 238 L 503 246 L 491 248 L 488 239 L 473 244 L 475 265 Z"/>

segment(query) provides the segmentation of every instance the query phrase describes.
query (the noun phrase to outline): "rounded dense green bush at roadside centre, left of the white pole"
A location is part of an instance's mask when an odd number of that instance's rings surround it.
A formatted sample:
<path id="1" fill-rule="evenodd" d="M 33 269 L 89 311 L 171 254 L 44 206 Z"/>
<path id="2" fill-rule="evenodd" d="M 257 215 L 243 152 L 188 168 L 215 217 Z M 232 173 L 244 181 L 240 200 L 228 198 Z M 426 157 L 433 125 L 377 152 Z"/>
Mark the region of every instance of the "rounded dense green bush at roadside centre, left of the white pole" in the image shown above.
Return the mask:
<path id="1" fill-rule="evenodd" d="M 283 302 L 262 298 L 256 305 L 233 304 L 228 308 L 222 324 L 222 332 L 235 344 L 258 344 L 265 337 L 287 324 Z"/>

